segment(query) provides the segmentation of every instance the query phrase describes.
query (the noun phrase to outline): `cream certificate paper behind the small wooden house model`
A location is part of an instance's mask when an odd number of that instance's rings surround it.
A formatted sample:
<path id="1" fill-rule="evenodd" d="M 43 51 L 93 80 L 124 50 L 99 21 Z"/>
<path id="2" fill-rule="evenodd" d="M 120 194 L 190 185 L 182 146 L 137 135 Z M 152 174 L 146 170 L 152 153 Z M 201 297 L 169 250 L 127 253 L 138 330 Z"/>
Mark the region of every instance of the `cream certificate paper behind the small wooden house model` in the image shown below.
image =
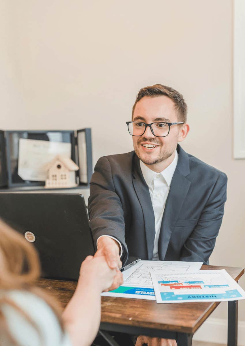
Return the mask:
<path id="1" fill-rule="evenodd" d="M 23 180 L 45 181 L 47 179 L 45 166 L 56 155 L 71 158 L 71 143 L 20 138 L 18 175 Z"/>

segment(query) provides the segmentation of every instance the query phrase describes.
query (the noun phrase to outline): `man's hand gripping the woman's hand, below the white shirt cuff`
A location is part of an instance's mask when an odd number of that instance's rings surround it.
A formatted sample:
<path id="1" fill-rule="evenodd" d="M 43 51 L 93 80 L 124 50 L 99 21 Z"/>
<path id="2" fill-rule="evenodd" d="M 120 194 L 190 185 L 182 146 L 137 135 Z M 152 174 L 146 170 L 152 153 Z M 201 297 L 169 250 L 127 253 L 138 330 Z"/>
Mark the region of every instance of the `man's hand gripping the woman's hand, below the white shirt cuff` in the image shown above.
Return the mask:
<path id="1" fill-rule="evenodd" d="M 116 240 L 106 236 L 99 238 L 98 250 L 94 257 L 105 256 L 108 266 L 111 269 L 117 269 L 117 275 L 110 288 L 106 291 L 115 290 L 123 283 L 123 274 L 119 270 L 122 266 L 119 250 L 120 247 Z"/>

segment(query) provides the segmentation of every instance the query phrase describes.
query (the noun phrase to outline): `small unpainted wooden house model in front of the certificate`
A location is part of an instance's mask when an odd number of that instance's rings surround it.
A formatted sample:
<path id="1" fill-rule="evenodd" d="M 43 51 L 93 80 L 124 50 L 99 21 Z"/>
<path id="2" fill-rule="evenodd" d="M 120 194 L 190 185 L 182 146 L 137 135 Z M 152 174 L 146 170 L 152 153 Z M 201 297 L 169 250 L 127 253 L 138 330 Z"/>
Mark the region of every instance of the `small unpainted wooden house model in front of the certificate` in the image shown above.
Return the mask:
<path id="1" fill-rule="evenodd" d="M 76 184 L 76 173 L 79 170 L 69 157 L 56 155 L 46 167 L 47 179 L 45 182 L 46 189 L 53 188 L 73 188 Z"/>

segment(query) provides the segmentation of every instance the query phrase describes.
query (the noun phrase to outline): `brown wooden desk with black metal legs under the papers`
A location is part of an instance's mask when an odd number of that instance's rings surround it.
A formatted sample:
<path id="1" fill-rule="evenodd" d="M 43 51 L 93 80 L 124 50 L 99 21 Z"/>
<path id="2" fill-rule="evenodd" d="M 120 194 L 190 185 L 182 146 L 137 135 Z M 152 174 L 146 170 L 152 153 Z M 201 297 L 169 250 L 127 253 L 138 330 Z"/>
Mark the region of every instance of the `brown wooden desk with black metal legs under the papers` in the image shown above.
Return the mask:
<path id="1" fill-rule="evenodd" d="M 244 274 L 244 268 L 201 267 L 201 270 L 218 269 L 225 269 L 236 282 Z M 76 287 L 76 282 L 61 280 L 41 279 L 38 284 L 51 290 L 63 307 Z M 237 346 L 237 304 L 237 301 L 228 302 L 228 346 Z M 193 334 L 218 305 L 219 302 L 157 304 L 151 300 L 102 297 L 100 331 L 111 345 L 117 344 L 107 331 L 175 338 L 178 346 L 191 346 Z"/>

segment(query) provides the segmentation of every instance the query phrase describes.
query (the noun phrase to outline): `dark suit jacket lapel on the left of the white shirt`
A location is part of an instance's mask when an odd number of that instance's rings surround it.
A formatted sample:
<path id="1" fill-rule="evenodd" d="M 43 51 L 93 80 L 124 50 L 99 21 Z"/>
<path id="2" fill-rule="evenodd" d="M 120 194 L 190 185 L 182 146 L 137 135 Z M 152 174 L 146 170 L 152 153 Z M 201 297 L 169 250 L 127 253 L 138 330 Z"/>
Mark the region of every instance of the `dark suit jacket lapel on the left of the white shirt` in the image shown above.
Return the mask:
<path id="1" fill-rule="evenodd" d="M 148 260 L 152 260 L 155 239 L 155 217 L 149 188 L 143 178 L 139 158 L 136 155 L 133 157 L 132 182 L 143 211 Z"/>

